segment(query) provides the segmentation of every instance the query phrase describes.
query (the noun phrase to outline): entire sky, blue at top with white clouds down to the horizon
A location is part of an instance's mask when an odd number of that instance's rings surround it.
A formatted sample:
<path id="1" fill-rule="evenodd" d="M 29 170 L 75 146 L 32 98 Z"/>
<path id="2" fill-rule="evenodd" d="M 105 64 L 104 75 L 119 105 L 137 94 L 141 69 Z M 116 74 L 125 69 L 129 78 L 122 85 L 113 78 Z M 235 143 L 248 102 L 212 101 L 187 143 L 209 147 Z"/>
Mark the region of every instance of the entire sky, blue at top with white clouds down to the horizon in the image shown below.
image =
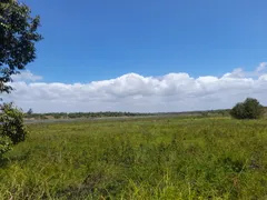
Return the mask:
<path id="1" fill-rule="evenodd" d="M 267 106 L 266 0 L 23 0 L 40 14 L 37 59 L 7 100 L 27 110 Z"/>

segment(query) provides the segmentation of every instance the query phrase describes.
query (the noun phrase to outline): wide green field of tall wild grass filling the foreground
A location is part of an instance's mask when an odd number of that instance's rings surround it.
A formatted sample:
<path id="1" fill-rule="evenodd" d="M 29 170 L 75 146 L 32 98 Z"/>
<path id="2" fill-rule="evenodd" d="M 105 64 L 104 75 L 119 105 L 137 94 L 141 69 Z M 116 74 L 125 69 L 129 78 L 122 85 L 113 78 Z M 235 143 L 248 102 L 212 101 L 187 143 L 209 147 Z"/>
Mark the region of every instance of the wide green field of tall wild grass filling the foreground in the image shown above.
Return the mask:
<path id="1" fill-rule="evenodd" d="M 267 121 L 30 124 L 0 167 L 0 199 L 267 199 Z"/>

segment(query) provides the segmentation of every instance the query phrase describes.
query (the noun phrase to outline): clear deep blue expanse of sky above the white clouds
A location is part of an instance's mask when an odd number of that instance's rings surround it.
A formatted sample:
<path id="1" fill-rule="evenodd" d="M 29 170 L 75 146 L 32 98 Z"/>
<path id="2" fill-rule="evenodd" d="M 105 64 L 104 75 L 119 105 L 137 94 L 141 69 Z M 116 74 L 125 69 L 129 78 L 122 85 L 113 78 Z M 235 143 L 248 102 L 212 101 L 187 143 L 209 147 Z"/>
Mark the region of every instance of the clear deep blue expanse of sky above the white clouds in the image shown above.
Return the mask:
<path id="1" fill-rule="evenodd" d="M 23 2 L 41 16 L 44 37 L 28 69 L 47 82 L 222 76 L 267 60 L 266 0 Z"/>

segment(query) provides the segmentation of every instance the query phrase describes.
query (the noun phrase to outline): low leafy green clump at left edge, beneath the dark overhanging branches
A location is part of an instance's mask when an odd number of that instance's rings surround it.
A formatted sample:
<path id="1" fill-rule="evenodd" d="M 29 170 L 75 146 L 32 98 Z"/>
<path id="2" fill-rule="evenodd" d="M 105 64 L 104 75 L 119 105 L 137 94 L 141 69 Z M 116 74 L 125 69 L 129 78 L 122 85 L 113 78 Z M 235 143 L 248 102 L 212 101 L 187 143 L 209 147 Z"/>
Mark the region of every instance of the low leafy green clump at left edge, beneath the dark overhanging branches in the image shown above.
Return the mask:
<path id="1" fill-rule="evenodd" d="M 0 106 L 0 158 L 12 146 L 24 141 L 26 134 L 22 111 L 12 103 Z"/>

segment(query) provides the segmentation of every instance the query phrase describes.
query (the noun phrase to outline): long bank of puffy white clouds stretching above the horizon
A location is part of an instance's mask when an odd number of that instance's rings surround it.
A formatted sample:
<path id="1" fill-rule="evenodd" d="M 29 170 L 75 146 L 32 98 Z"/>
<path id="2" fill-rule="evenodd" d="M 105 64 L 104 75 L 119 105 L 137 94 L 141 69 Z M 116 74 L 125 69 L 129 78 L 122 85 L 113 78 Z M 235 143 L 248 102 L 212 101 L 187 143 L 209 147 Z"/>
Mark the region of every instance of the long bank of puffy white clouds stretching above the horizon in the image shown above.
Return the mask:
<path id="1" fill-rule="evenodd" d="M 247 97 L 267 104 L 266 62 L 255 74 L 236 69 L 221 77 L 192 78 L 188 73 L 169 73 L 160 78 L 127 73 L 89 83 L 46 83 L 31 72 L 12 82 L 16 90 L 6 96 L 23 109 L 50 111 L 132 111 L 164 112 L 230 108 Z M 255 73 L 254 72 L 254 73 Z M 251 74 L 251 73 L 250 73 Z M 28 81 L 27 81 L 28 80 Z"/>

